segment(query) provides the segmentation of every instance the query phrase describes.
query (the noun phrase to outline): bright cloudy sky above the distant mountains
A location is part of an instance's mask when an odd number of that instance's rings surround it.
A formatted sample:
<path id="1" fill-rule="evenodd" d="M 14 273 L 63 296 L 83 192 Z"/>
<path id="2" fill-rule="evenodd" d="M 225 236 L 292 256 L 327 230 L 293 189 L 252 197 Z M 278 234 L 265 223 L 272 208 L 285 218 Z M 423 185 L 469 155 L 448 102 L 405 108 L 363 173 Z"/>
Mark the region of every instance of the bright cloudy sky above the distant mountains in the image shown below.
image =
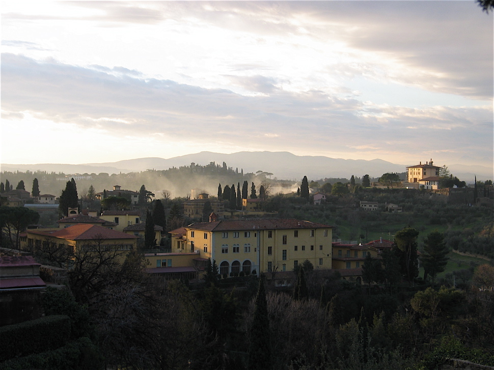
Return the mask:
<path id="1" fill-rule="evenodd" d="M 1 5 L 2 163 L 493 165 L 494 17 L 473 0 Z"/>

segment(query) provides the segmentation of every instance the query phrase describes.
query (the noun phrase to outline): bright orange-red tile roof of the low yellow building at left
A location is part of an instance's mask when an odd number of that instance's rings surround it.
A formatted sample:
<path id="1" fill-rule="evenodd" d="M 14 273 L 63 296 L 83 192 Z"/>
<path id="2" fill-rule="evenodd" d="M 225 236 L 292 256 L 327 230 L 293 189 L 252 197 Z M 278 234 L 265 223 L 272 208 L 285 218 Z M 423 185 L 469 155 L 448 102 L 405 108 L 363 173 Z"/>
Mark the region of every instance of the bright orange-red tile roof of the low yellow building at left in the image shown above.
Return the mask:
<path id="1" fill-rule="evenodd" d="M 52 232 L 30 230 L 28 234 L 46 235 L 68 240 L 93 240 L 93 239 L 136 239 L 138 237 L 121 233 L 106 227 L 91 225 L 89 223 L 78 223 Z"/>

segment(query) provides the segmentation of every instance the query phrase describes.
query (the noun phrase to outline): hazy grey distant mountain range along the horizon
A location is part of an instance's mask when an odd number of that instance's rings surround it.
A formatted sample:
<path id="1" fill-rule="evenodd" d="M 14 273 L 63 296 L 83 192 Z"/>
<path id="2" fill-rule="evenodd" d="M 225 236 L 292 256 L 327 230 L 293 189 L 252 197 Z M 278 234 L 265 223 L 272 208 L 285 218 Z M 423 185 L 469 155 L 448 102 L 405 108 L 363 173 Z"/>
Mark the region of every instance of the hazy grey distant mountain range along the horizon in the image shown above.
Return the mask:
<path id="1" fill-rule="evenodd" d="M 229 167 L 238 168 L 240 172 L 255 173 L 258 170 L 272 173 L 272 178 L 279 180 L 300 180 L 307 176 L 309 179 L 318 180 L 324 178 L 347 178 L 351 175 L 362 177 L 370 175 L 379 177 L 388 172 L 402 173 L 406 166 L 418 163 L 395 164 L 381 159 L 340 159 L 324 156 L 297 156 L 289 152 L 238 152 L 232 154 L 200 152 L 187 154 L 169 159 L 164 158 L 138 158 L 118 162 L 85 163 L 85 164 L 2 164 L 2 171 L 42 170 L 46 172 L 62 172 L 65 174 L 118 174 L 128 172 L 141 172 L 146 169 L 169 169 L 190 165 L 190 163 L 206 165 L 210 162 Z M 441 164 L 437 164 L 441 165 Z M 493 178 L 493 169 L 480 165 L 448 164 L 450 172 L 460 180 L 469 182 L 477 176 L 478 180 Z"/>

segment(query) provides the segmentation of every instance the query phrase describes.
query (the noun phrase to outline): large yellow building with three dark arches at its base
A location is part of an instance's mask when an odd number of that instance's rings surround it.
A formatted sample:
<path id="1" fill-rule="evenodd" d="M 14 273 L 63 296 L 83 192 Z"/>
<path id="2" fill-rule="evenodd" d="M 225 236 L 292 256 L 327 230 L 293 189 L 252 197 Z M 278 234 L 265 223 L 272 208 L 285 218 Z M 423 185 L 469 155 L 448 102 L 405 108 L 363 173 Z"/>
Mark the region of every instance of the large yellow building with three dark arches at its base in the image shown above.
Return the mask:
<path id="1" fill-rule="evenodd" d="M 291 271 L 309 260 L 332 268 L 332 226 L 297 219 L 221 220 L 171 232 L 172 252 L 215 260 L 222 275 Z"/>

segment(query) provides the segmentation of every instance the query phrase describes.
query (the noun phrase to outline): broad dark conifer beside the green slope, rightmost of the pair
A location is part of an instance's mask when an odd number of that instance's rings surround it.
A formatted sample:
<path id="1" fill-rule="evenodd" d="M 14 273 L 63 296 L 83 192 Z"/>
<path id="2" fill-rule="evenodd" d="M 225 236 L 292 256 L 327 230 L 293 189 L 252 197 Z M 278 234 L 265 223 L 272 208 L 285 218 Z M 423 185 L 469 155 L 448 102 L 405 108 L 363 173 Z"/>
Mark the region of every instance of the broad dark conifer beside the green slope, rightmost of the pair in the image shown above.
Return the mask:
<path id="1" fill-rule="evenodd" d="M 433 231 L 427 235 L 424 240 L 424 253 L 420 257 L 424 266 L 424 280 L 430 275 L 434 284 L 434 277 L 438 272 L 443 272 L 448 263 L 448 252 L 443 233 Z"/>

